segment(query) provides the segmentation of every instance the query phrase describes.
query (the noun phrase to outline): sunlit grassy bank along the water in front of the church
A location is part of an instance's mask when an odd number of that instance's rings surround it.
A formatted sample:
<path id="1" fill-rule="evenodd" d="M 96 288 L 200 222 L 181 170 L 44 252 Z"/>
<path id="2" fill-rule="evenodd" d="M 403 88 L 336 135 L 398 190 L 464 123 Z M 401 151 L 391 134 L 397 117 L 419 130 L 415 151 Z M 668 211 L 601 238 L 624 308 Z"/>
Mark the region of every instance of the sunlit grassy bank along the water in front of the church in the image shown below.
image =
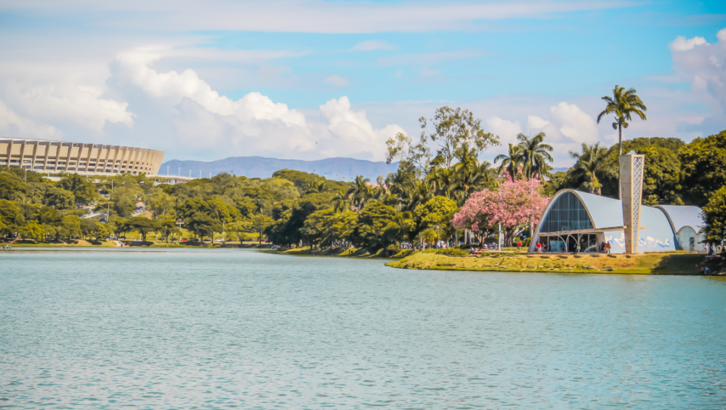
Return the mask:
<path id="1" fill-rule="evenodd" d="M 401 269 L 487 270 L 505 272 L 628 273 L 648 275 L 726 274 L 720 260 L 703 254 L 637 255 L 499 255 L 450 257 L 443 254 L 415 253 L 386 265 Z"/>

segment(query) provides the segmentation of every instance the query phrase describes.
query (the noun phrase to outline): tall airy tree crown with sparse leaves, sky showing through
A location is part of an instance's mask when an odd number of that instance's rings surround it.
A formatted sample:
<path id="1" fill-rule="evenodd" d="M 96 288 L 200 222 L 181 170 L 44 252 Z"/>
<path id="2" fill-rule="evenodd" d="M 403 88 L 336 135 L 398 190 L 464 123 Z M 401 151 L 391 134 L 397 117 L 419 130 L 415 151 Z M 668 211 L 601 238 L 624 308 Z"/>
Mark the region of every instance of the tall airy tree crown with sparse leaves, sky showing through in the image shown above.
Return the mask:
<path id="1" fill-rule="evenodd" d="M 427 120 L 421 117 L 418 121 L 422 129 L 418 143 L 401 133 L 386 141 L 388 164 L 400 159 L 417 166 L 422 172 L 428 172 L 433 150 L 436 161 L 451 170 L 454 158 L 464 145 L 476 150 L 477 156 L 486 148 L 499 145 L 499 136 L 484 132 L 481 120 L 474 118 L 469 110 L 444 106 L 436 109 L 433 118 Z M 433 129 L 428 129 L 429 122 Z"/>

